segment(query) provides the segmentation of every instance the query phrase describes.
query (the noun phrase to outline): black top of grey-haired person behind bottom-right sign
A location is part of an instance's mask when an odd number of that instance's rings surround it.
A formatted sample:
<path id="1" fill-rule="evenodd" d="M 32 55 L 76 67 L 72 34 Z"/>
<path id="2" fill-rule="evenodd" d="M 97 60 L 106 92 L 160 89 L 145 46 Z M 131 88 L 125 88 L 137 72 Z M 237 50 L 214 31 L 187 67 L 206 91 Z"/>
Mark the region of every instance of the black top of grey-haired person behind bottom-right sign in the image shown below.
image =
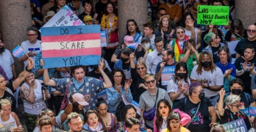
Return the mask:
<path id="1" fill-rule="evenodd" d="M 243 112 L 239 111 L 238 113 L 233 114 L 233 112 L 231 112 L 228 109 L 225 109 L 223 116 L 221 116 L 221 120 L 220 123 L 227 123 L 230 121 L 235 121 L 236 119 L 241 119 L 243 118 L 243 120 L 245 121 L 245 124 L 247 126 L 247 129 L 251 129 L 251 123 L 248 119 L 248 116 L 246 114 L 244 114 Z"/>

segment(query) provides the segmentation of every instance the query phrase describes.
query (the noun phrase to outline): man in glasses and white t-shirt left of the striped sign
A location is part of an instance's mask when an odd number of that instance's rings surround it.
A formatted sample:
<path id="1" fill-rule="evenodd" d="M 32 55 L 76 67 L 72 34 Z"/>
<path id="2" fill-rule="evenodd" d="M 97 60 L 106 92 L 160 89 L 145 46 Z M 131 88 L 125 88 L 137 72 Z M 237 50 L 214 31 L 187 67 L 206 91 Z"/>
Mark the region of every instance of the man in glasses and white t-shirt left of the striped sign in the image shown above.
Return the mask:
<path id="1" fill-rule="evenodd" d="M 21 48 L 27 53 L 19 57 L 19 62 L 24 62 L 24 69 L 27 67 L 28 58 L 31 57 L 35 61 L 35 56 L 41 51 L 41 41 L 37 40 L 38 29 L 35 26 L 27 28 L 28 40 L 21 43 Z"/>

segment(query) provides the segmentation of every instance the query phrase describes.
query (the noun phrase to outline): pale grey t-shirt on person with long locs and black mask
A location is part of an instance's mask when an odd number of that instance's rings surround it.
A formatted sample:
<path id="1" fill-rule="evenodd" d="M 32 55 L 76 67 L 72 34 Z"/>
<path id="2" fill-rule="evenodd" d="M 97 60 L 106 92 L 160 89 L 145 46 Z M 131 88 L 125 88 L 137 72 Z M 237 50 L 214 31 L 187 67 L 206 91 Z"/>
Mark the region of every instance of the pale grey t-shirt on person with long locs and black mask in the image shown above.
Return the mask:
<path id="1" fill-rule="evenodd" d="M 195 65 L 195 67 L 193 67 L 192 73 L 190 75 L 190 79 L 194 79 L 198 81 L 207 80 L 207 83 L 209 84 L 209 86 L 223 85 L 223 81 L 224 81 L 223 73 L 221 69 L 219 69 L 219 67 L 216 67 L 215 69 L 213 69 L 213 73 L 211 73 L 211 70 L 205 71 L 202 68 L 201 75 L 197 74 L 197 71 L 196 71 L 197 67 L 198 65 Z M 218 91 L 209 90 L 208 88 L 204 88 L 204 93 L 205 93 L 205 97 L 207 98 L 211 98 L 212 96 L 216 96 L 217 94 L 219 94 Z"/>

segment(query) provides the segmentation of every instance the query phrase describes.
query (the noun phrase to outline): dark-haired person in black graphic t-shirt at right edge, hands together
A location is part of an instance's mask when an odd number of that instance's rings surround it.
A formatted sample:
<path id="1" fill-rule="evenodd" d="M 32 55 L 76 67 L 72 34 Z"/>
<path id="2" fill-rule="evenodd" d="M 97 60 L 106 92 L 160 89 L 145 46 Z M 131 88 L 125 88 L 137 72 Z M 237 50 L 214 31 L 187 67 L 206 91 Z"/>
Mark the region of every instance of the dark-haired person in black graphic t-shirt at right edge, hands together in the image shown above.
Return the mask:
<path id="1" fill-rule="evenodd" d="M 255 46 L 253 44 L 247 44 L 243 55 L 235 60 L 236 76 L 242 79 L 245 84 L 245 92 L 251 94 L 251 77 L 256 74 L 255 71 Z"/>

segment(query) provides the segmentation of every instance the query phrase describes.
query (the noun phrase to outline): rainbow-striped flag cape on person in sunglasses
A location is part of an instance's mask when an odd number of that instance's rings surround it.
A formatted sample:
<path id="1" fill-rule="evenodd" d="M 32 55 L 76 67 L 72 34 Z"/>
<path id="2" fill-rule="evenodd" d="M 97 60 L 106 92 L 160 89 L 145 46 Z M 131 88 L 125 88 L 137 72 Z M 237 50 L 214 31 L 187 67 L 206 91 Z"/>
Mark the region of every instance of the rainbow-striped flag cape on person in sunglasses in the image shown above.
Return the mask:
<path id="1" fill-rule="evenodd" d="M 185 46 L 186 41 L 188 41 L 188 36 L 185 35 L 183 47 Z M 177 38 L 172 42 L 172 50 L 174 50 L 174 60 L 178 62 L 179 56 L 182 54 L 182 48 L 180 47 L 179 40 Z"/>

